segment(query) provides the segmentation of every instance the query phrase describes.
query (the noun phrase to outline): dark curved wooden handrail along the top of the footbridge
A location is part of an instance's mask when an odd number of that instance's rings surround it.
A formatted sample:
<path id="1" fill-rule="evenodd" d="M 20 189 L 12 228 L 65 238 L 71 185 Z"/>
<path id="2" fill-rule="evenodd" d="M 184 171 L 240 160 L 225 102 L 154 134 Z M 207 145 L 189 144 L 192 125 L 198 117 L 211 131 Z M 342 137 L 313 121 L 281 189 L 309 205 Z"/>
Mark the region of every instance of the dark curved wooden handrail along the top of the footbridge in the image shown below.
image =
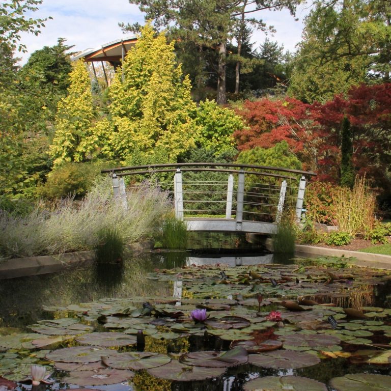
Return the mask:
<path id="1" fill-rule="evenodd" d="M 256 170 L 271 170 L 271 171 L 279 171 L 279 172 L 285 172 L 285 173 L 291 173 L 291 174 L 301 174 L 301 175 L 309 175 L 309 176 L 315 176 L 317 175 L 313 171 L 302 171 L 302 170 L 293 170 L 293 169 L 286 169 L 284 167 L 272 167 L 272 166 L 265 166 L 265 165 L 254 165 L 254 164 L 236 164 L 236 163 L 164 163 L 164 164 L 147 164 L 147 165 L 136 165 L 136 166 L 127 166 L 127 167 L 116 167 L 114 169 L 106 169 L 102 170 L 101 173 L 122 173 L 124 171 L 129 171 L 127 173 L 118 174 L 118 176 L 125 176 L 125 175 L 137 175 L 137 174 L 149 174 L 150 170 L 153 170 L 154 168 L 163 168 L 163 167 L 192 167 L 192 166 L 210 166 L 210 167 L 239 167 L 239 169 L 256 169 Z M 135 171 L 135 170 L 141 170 L 141 169 L 148 169 L 147 171 Z M 171 170 L 154 170 L 154 172 L 175 172 L 176 169 Z M 219 171 L 219 172 L 233 172 L 237 173 L 239 170 L 220 170 L 220 169 L 182 169 L 182 171 Z M 262 175 L 262 176 L 272 176 L 272 177 L 278 177 L 278 178 L 290 178 L 287 176 L 277 175 L 277 174 L 270 174 L 270 173 L 257 173 L 254 171 L 245 171 L 246 174 L 253 174 L 253 175 Z"/>

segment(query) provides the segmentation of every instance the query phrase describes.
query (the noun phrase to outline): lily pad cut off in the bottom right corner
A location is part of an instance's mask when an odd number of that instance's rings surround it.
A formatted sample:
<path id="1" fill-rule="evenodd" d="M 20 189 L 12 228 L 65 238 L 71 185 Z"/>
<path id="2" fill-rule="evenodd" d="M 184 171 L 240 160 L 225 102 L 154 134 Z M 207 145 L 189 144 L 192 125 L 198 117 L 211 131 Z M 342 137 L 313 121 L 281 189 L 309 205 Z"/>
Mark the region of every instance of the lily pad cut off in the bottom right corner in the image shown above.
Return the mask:
<path id="1" fill-rule="evenodd" d="M 337 391 L 388 391 L 391 376 L 369 373 L 348 374 L 330 380 L 331 387 Z"/>

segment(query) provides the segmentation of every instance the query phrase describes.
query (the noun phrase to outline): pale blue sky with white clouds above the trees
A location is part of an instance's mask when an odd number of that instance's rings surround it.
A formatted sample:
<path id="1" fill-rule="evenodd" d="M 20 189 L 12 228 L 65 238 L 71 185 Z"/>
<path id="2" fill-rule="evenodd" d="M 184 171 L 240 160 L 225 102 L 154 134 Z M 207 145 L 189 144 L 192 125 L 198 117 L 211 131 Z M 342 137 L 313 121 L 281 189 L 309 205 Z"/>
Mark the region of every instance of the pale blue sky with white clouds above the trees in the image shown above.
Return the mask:
<path id="1" fill-rule="evenodd" d="M 284 45 L 286 50 L 294 51 L 295 45 L 301 39 L 302 21 L 308 13 L 308 7 L 300 6 L 296 17 L 289 11 L 263 11 L 262 18 L 269 25 L 273 25 L 276 33 L 269 39 Z M 138 7 L 129 4 L 128 0 L 43 0 L 39 10 L 26 13 L 26 17 L 46 18 L 41 34 L 21 34 L 21 43 L 27 47 L 27 53 L 16 53 L 21 57 L 23 65 L 29 55 L 43 46 L 57 44 L 58 38 L 65 38 L 67 45 L 75 45 L 73 51 L 83 51 L 88 48 L 97 48 L 122 37 L 132 35 L 123 33 L 118 26 L 119 22 L 144 24 L 144 15 Z M 261 13 L 259 13 L 261 15 Z M 265 40 L 265 34 L 255 32 L 252 38 L 253 49 L 259 47 Z"/>

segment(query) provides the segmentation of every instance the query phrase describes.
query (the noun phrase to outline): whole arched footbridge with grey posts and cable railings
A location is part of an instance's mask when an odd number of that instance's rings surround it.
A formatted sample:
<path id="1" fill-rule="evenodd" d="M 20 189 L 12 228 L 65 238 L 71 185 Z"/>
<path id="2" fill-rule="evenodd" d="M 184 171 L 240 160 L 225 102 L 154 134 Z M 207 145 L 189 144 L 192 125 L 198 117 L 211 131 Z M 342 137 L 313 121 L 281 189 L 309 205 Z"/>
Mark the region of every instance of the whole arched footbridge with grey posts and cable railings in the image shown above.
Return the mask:
<path id="1" fill-rule="evenodd" d="M 313 172 L 236 163 L 167 163 L 102 170 L 115 197 L 159 186 L 189 231 L 273 234 L 283 213 L 300 221 L 306 180 Z"/>

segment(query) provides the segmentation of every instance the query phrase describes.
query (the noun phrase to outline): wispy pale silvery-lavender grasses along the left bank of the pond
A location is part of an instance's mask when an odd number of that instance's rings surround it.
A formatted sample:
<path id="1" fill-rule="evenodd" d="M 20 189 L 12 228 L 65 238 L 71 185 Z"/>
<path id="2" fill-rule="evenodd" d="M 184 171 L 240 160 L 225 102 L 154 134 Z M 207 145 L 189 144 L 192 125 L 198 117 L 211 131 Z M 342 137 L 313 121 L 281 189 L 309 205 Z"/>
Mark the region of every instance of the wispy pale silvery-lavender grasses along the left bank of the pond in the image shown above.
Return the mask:
<path id="1" fill-rule="evenodd" d="M 0 256 L 3 258 L 50 255 L 93 249 L 101 230 L 115 227 L 126 243 L 154 234 L 170 203 L 155 185 L 127 192 L 128 207 L 113 196 L 110 180 L 96 183 L 75 207 L 72 199 L 53 209 L 38 204 L 27 216 L 0 212 Z"/>

